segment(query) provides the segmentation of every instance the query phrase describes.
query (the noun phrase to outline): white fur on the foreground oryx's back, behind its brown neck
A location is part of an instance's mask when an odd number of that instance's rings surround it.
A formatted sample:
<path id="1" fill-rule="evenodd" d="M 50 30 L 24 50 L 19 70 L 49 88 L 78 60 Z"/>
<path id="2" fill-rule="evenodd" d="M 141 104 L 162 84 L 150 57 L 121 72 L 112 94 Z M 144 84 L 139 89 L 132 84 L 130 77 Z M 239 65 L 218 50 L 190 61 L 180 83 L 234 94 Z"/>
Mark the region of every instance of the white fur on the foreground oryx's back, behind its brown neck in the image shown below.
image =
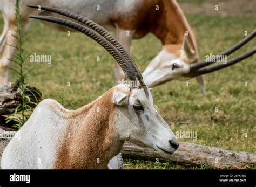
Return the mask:
<path id="1" fill-rule="evenodd" d="M 29 120 L 5 148 L 3 169 L 50 169 L 58 146 L 59 135 L 64 133 L 65 119 L 58 116 L 45 99 L 38 104 Z M 18 148 L 17 148 L 18 147 Z"/>

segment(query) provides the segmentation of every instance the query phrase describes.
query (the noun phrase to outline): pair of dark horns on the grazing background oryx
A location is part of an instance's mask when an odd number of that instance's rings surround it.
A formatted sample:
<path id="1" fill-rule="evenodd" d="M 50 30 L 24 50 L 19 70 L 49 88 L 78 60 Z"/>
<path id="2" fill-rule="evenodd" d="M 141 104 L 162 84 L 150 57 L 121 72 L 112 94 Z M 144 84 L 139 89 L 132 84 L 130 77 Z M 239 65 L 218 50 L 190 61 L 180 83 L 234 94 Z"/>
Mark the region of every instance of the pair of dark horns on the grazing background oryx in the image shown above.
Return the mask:
<path id="1" fill-rule="evenodd" d="M 255 36 L 256 36 L 256 30 L 254 30 L 247 37 L 245 37 L 244 39 L 239 41 L 239 43 L 230 47 L 230 49 L 228 49 L 224 52 L 221 52 L 220 54 L 215 56 L 215 58 L 218 58 L 219 60 L 221 60 L 221 59 L 223 59 L 224 56 L 229 56 L 230 54 L 232 54 L 233 52 L 237 51 L 242 46 L 244 46 L 246 43 L 248 43 L 248 41 L 252 40 Z M 205 61 L 200 61 L 198 63 L 191 64 L 190 65 L 190 72 L 187 73 L 187 74 L 184 74 L 184 76 L 185 77 L 197 77 L 198 75 L 201 75 L 201 74 L 211 73 L 213 71 L 220 70 L 222 68 L 231 66 L 231 65 L 236 64 L 236 63 L 239 63 L 240 61 L 252 56 L 255 52 L 256 52 L 256 47 L 254 49 L 252 49 L 251 51 L 248 51 L 244 54 L 241 54 L 238 57 L 235 57 L 231 60 L 227 60 L 223 64 L 218 64 L 218 65 L 211 66 L 211 67 L 206 67 L 206 66 L 212 64 L 213 59 L 210 59 L 208 61 L 206 61 L 206 60 Z"/>

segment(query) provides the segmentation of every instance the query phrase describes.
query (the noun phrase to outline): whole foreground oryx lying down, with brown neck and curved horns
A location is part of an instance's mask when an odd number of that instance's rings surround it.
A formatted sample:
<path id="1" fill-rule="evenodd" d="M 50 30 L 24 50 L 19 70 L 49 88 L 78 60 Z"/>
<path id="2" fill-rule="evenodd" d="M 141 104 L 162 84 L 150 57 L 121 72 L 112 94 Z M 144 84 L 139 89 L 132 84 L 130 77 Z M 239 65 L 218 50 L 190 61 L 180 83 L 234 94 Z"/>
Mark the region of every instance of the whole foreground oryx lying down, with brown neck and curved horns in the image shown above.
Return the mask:
<path id="1" fill-rule="evenodd" d="M 72 15 L 72 13 L 70 14 Z M 3 169 L 106 169 L 124 141 L 151 147 L 170 157 L 179 144 L 168 124 L 157 113 L 153 98 L 136 64 L 107 32 L 69 20 L 32 16 L 69 26 L 96 40 L 117 61 L 129 84 L 113 87 L 95 101 L 75 111 L 46 99 L 5 148 Z M 93 24 L 93 22 L 91 22 Z M 125 54 L 125 55 L 123 55 Z"/>

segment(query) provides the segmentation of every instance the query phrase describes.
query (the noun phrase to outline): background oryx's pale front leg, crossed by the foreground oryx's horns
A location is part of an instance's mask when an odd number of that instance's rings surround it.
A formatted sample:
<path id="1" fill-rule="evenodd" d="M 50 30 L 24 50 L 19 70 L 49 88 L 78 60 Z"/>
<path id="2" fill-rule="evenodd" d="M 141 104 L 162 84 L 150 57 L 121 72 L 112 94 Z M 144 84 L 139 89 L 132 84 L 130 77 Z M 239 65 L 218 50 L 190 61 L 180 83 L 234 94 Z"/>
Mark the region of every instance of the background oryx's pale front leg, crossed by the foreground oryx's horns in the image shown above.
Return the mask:
<path id="1" fill-rule="evenodd" d="M 132 38 L 134 36 L 135 31 L 120 29 L 116 26 L 116 38 L 123 45 L 127 52 L 130 52 L 130 46 L 132 43 Z M 125 78 L 124 72 L 122 68 L 116 63 L 114 63 L 114 74 L 116 75 L 116 80 L 122 80 Z"/>

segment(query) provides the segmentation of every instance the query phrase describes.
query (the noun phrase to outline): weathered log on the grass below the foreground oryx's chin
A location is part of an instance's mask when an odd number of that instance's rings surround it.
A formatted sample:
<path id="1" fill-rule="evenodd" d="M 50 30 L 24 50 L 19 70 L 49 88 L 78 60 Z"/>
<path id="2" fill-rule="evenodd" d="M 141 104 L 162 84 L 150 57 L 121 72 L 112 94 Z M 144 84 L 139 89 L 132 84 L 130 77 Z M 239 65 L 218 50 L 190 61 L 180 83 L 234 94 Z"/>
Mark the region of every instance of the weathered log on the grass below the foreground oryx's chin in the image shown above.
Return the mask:
<path id="1" fill-rule="evenodd" d="M 180 142 L 177 151 L 170 159 L 160 156 L 157 151 L 135 146 L 126 142 L 121 151 L 123 158 L 143 159 L 147 161 L 176 162 L 178 164 L 205 164 L 218 169 L 244 169 L 255 167 L 256 154 L 231 151 L 217 147 L 202 146 L 194 143 Z"/>

